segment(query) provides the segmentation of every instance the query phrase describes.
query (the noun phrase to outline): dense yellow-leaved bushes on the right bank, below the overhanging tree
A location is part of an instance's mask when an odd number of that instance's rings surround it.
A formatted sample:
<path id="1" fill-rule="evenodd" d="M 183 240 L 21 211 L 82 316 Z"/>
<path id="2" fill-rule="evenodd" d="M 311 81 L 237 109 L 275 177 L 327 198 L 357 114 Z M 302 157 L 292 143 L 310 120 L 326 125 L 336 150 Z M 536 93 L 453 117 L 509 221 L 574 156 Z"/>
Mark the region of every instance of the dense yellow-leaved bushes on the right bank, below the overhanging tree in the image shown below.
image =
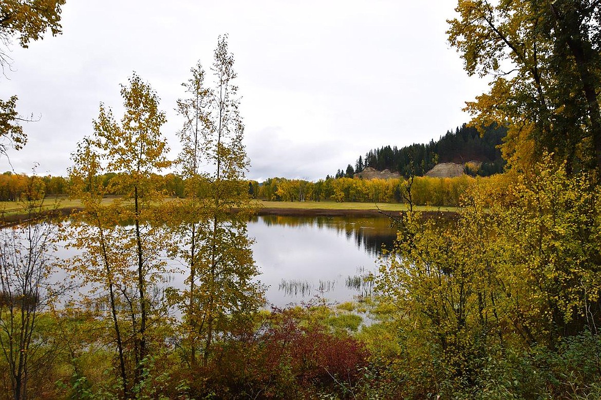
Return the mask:
<path id="1" fill-rule="evenodd" d="M 379 277 L 388 301 L 420 321 L 400 323 L 423 327 L 415 335 L 442 345 L 490 332 L 499 332 L 487 336 L 490 344 L 553 345 L 563 326 L 594 329 L 587 310 L 601 294 L 595 182 L 570 177 L 546 156 L 528 174 L 512 170 L 472 186 L 457 222 L 404 216 Z"/>

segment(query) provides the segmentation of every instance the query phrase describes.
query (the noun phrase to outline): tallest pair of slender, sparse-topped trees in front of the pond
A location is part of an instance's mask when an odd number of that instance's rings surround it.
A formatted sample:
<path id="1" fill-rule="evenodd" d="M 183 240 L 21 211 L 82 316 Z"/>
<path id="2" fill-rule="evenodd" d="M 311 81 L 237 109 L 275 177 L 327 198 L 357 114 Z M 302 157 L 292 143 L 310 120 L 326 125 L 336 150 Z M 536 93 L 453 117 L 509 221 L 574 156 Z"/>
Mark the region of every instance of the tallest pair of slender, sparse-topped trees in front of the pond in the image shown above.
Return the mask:
<path id="1" fill-rule="evenodd" d="M 188 97 L 178 101 L 185 120 L 180 165 L 188 182 L 188 205 L 199 221 L 183 226 L 181 248 L 185 250 L 180 252 L 189 267 L 180 302 L 189 328 L 192 364 L 198 341 L 204 341 L 206 365 L 213 341 L 227 324 L 263 303 L 262 286 L 253 280 L 258 269 L 246 232 L 252 209 L 244 180 L 249 160 L 242 143 L 244 125 L 233 64 L 227 36 L 219 37 L 211 68 L 213 85 L 206 84 L 199 62 L 184 83 Z"/>

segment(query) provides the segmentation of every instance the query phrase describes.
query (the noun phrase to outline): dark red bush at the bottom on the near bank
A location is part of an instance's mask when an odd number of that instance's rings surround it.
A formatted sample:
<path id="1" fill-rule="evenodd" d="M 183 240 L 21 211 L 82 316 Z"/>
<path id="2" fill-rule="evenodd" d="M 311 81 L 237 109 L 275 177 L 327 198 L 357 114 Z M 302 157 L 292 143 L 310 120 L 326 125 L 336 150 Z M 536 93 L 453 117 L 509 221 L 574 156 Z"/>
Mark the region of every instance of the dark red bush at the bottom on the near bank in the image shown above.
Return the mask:
<path id="1" fill-rule="evenodd" d="M 314 320 L 314 319 L 313 319 Z M 259 329 L 240 330 L 195 374 L 198 395 L 221 398 L 307 398 L 351 395 L 367 362 L 363 345 L 311 322 L 308 309 L 274 309 Z"/>

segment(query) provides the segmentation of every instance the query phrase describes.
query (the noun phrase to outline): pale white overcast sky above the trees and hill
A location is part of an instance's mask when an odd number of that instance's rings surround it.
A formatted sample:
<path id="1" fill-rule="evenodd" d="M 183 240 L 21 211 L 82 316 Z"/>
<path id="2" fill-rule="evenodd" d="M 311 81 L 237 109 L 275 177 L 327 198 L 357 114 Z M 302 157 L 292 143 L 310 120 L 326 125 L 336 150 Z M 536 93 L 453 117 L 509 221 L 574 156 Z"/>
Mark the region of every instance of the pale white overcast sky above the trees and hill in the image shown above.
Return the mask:
<path id="1" fill-rule="evenodd" d="M 99 103 L 121 115 L 132 71 L 153 86 L 172 149 L 175 100 L 190 68 L 209 70 L 229 35 L 242 95 L 249 178 L 317 180 L 383 145 L 438 139 L 467 122 L 464 102 L 486 89 L 447 43 L 450 0 L 67 0 L 63 34 L 11 47 L 0 98 L 19 96 L 29 142 L 16 172 L 64 175 Z M 11 167 L 5 157 L 0 171 Z"/>

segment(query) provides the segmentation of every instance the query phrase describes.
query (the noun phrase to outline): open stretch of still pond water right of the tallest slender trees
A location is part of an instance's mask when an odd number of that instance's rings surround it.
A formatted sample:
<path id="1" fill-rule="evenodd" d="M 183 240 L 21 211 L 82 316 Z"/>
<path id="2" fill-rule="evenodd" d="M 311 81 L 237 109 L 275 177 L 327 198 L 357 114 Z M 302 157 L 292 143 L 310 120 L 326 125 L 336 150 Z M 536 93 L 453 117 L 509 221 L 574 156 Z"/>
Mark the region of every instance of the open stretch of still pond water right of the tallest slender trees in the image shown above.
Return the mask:
<path id="1" fill-rule="evenodd" d="M 377 270 L 396 231 L 386 217 L 261 216 L 248 223 L 248 234 L 267 302 L 282 307 L 318 295 L 344 302 L 368 294 L 363 278 Z"/>

